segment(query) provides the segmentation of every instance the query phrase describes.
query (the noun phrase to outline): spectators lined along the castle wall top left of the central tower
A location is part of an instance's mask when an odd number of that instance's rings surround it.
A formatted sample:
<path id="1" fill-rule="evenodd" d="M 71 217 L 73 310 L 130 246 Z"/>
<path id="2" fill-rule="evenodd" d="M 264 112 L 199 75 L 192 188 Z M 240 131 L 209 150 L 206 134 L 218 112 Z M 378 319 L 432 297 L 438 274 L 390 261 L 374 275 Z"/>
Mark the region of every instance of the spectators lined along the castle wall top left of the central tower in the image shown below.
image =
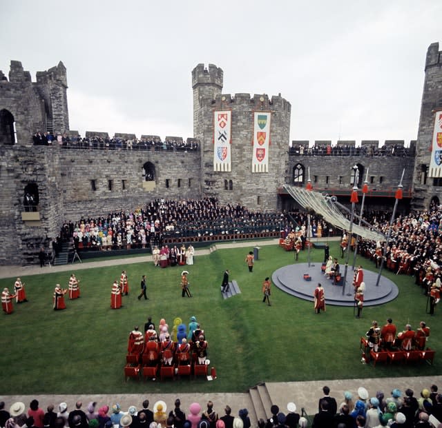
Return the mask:
<path id="1" fill-rule="evenodd" d="M 59 145 L 64 149 L 84 149 L 84 150 L 149 150 L 159 152 L 166 150 L 169 152 L 191 152 L 199 148 L 198 141 L 189 139 L 125 139 L 120 136 L 70 136 L 66 132 L 58 133 L 56 136 L 52 132 L 36 132 L 32 136 L 34 145 Z"/>

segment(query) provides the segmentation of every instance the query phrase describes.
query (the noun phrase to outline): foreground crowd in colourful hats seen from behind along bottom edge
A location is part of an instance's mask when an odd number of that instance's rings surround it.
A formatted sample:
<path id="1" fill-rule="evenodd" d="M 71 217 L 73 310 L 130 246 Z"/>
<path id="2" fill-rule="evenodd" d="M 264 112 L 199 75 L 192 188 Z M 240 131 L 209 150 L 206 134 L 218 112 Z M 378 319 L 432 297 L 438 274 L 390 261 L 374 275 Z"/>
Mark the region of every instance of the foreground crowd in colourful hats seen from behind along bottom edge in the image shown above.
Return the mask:
<path id="1" fill-rule="evenodd" d="M 318 391 L 319 392 L 319 391 Z M 271 416 L 260 418 L 258 428 L 442 428 L 442 394 L 437 385 L 429 385 L 419 393 L 410 387 L 376 391 L 358 387 L 346 390 L 342 396 L 324 386 L 318 402 L 288 402 L 283 408 L 271 403 Z M 149 409 L 148 399 L 142 402 L 61 402 L 46 403 L 46 411 L 33 399 L 28 409 L 24 402 L 13 402 L 8 407 L 0 402 L 1 428 L 250 428 L 248 409 L 231 409 L 216 400 L 200 405 L 193 400 L 182 405 L 180 398 L 173 403 L 157 400 Z M 40 407 L 41 406 L 41 407 Z M 219 411 L 220 407 L 223 411 Z M 302 406 L 302 407 L 300 407 Z M 305 411 L 305 407 L 308 409 Z M 127 410 L 126 410 L 127 409 Z"/>

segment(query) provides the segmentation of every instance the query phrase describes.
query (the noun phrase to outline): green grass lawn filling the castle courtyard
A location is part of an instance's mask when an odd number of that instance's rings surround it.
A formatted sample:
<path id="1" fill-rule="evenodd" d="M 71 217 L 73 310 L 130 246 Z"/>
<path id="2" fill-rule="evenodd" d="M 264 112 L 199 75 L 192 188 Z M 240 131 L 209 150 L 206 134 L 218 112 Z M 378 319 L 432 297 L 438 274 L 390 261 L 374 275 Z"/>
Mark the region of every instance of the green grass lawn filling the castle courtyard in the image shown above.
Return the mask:
<path id="1" fill-rule="evenodd" d="M 331 254 L 339 254 L 331 243 Z M 384 272 L 399 288 L 399 296 L 386 305 L 365 307 L 363 318 L 353 308 L 328 306 L 317 316 L 313 303 L 294 298 L 272 287 L 271 307 L 262 303 L 261 285 L 274 270 L 294 263 L 294 254 L 276 245 L 260 249 L 253 273 L 244 258 L 253 248 L 220 249 L 195 257 L 189 270 L 193 298 L 182 298 L 182 267 L 161 269 L 153 263 L 116 265 L 96 269 L 73 266 L 81 280 L 81 298 L 66 299 L 68 309 L 52 310 L 56 283 L 67 287 L 70 273 L 21 277 L 28 303 L 15 305 L 12 315 L 1 314 L 0 394 L 115 394 L 157 391 L 162 393 L 245 391 L 261 381 L 345 379 L 392 376 L 432 376 L 442 373 L 440 353 L 442 314 L 425 314 L 426 298 L 414 278 Z M 323 260 L 323 250 L 312 250 L 312 261 Z M 351 258 L 352 260 L 352 258 Z M 307 261 L 307 251 L 299 262 Z M 365 269 L 374 265 L 358 258 Z M 343 264 L 343 263 L 342 263 Z M 220 283 L 224 269 L 238 281 L 241 294 L 223 300 Z M 110 309 L 111 287 L 122 269 L 131 287 L 122 309 Z M 319 269 L 319 265 L 318 265 Z M 137 300 L 140 279 L 146 274 L 150 300 Z M 13 272 L 11 272 L 11 276 Z M 352 277 L 349 267 L 348 278 Z M 15 279 L 15 278 L 14 278 Z M 0 280 L 12 289 L 14 279 Z M 302 281 L 300 278 L 299 281 Z M 373 287 L 374 284 L 367 284 Z M 124 381 L 127 338 L 134 325 L 143 329 L 148 316 L 156 325 L 166 318 L 170 329 L 177 316 L 189 323 L 196 316 L 206 332 L 209 359 L 218 379 Z M 398 329 L 410 322 L 415 328 L 426 320 L 432 328 L 428 345 L 436 349 L 434 365 L 386 367 L 361 364 L 359 338 L 373 319 L 383 325 L 391 317 Z"/>

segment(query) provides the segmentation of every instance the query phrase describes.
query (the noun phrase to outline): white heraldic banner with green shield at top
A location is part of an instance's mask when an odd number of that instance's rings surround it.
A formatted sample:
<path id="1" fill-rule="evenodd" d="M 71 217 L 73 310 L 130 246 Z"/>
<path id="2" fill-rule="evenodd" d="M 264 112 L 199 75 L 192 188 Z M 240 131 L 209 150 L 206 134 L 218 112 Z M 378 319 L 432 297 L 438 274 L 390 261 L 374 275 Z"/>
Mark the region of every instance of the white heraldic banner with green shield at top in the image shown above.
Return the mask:
<path id="1" fill-rule="evenodd" d="M 270 112 L 253 112 L 251 172 L 269 172 Z"/>

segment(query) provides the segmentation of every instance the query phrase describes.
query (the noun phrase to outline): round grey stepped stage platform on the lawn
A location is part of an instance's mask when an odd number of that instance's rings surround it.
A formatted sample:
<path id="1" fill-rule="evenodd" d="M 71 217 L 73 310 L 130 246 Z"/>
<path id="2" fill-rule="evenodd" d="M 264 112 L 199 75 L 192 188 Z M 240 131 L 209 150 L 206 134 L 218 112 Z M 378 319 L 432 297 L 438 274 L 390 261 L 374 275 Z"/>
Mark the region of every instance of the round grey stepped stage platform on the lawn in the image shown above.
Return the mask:
<path id="1" fill-rule="evenodd" d="M 287 265 L 280 267 L 280 269 L 273 272 L 271 279 L 273 284 L 283 292 L 291 294 L 303 300 L 313 301 L 314 289 L 321 283 L 325 292 L 326 305 L 334 306 L 353 306 L 354 305 L 354 288 L 353 269 L 351 266 L 347 270 L 347 284 L 345 285 L 345 294 L 343 294 L 342 285 L 334 285 L 333 282 L 327 279 L 320 269 L 321 263 L 296 263 L 294 265 Z M 344 274 L 344 267 L 341 266 L 342 275 Z M 305 281 L 304 274 L 311 276 L 311 281 Z M 399 294 L 398 287 L 393 281 L 381 276 L 378 287 L 376 287 L 376 280 L 378 278 L 377 272 L 371 272 L 364 269 L 364 306 L 383 305 L 383 303 L 390 302 Z"/>

